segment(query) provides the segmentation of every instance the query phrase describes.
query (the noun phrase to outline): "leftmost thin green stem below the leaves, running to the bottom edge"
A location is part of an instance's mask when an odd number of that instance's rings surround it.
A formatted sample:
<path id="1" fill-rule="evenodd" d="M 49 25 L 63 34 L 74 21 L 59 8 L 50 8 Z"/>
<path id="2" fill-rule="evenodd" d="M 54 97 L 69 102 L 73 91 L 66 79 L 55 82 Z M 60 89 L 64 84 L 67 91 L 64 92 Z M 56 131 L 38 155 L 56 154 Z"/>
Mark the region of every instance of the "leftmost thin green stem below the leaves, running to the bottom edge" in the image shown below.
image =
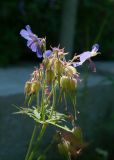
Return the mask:
<path id="1" fill-rule="evenodd" d="M 29 147 L 28 147 L 28 150 L 27 150 L 27 154 L 26 154 L 25 160 L 28 160 L 28 158 L 29 158 L 29 155 L 30 155 L 30 152 L 31 152 L 31 149 L 32 149 L 32 145 L 33 145 L 33 141 L 34 141 L 34 138 L 36 136 L 36 133 L 37 133 L 37 126 L 35 125 L 33 133 L 32 133 L 32 137 L 31 137 L 31 140 L 30 140 L 30 143 L 29 143 Z"/>

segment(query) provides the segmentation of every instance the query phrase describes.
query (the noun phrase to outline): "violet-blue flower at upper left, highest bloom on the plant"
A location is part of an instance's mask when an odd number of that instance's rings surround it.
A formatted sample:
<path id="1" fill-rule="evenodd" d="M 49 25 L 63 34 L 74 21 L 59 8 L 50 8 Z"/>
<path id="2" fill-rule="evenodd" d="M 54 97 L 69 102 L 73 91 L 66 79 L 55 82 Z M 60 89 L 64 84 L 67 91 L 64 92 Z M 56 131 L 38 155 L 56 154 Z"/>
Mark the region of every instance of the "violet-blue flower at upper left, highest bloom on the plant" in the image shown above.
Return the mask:
<path id="1" fill-rule="evenodd" d="M 27 40 L 27 46 L 36 52 L 37 57 L 42 58 L 41 47 L 43 45 L 40 38 L 38 38 L 32 31 L 29 25 L 20 31 L 20 35 Z"/>

